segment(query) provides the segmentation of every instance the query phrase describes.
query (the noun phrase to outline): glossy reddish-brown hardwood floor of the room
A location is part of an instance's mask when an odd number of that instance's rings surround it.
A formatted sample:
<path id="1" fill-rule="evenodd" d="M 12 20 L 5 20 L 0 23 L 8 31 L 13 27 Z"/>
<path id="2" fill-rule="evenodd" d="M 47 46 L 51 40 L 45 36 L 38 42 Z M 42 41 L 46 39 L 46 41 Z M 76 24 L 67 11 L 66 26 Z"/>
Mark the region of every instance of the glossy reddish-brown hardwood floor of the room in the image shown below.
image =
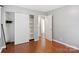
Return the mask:
<path id="1" fill-rule="evenodd" d="M 30 41 L 23 44 L 13 45 L 8 44 L 7 49 L 3 49 L 2 53 L 78 53 L 78 50 L 64 46 L 54 41 L 46 39 L 46 47 L 41 47 L 41 40 L 38 42 Z"/>

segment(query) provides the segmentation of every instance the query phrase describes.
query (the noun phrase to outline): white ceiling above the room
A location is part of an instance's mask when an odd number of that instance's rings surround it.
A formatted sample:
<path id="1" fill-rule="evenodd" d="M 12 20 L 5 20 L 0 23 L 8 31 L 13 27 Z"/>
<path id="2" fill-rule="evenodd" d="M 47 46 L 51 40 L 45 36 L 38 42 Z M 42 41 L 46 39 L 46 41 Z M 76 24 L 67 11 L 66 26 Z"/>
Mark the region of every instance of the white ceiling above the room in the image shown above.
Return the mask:
<path id="1" fill-rule="evenodd" d="M 18 5 L 18 6 L 31 9 L 31 10 L 47 12 L 47 11 L 54 10 L 56 8 L 63 7 L 64 5 Z"/>

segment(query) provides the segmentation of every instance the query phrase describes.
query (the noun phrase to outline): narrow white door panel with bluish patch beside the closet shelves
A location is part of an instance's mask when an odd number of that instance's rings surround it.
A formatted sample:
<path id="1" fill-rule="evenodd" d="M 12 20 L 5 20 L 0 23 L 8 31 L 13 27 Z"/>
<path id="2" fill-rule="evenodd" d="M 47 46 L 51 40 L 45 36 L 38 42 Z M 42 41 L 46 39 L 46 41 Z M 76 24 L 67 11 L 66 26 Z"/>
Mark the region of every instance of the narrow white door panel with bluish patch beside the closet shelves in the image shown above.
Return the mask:
<path id="1" fill-rule="evenodd" d="M 39 39 L 38 16 L 34 16 L 34 39 L 35 41 Z"/>

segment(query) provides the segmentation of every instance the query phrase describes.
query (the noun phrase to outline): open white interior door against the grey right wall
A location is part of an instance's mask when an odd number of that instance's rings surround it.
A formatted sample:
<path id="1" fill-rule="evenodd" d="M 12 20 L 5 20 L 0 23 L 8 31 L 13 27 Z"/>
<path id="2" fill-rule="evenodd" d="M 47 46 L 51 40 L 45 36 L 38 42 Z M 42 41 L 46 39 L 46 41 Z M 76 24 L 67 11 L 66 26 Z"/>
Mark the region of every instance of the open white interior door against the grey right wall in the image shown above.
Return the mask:
<path id="1" fill-rule="evenodd" d="M 53 20 L 52 20 L 52 15 L 47 16 L 46 19 L 46 38 L 48 40 L 52 41 L 52 28 L 53 28 Z"/>

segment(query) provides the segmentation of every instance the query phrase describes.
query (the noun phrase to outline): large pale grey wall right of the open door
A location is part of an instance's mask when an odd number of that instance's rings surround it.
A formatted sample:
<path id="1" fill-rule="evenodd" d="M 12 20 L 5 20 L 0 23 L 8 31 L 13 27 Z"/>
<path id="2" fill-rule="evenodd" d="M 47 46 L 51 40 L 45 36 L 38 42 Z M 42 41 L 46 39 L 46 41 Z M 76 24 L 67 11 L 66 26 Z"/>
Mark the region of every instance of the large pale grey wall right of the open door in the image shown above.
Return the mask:
<path id="1" fill-rule="evenodd" d="M 66 6 L 51 11 L 53 39 L 79 48 L 79 6 Z"/>

